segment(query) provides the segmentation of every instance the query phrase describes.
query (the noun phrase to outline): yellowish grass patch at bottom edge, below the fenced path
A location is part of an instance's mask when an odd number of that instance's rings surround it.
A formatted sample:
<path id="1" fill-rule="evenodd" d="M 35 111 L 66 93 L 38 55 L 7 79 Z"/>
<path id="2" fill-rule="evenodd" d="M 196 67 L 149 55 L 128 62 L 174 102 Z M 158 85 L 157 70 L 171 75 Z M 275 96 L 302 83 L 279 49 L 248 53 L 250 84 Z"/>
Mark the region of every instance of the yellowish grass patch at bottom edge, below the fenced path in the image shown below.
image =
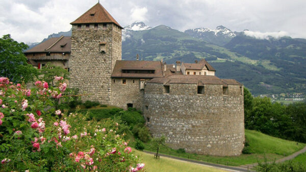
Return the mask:
<path id="1" fill-rule="evenodd" d="M 191 162 L 184 162 L 166 157 L 155 159 L 154 155 L 135 151 L 135 155 L 140 155 L 141 162 L 145 163 L 145 171 L 225 171 L 220 168 L 214 168 L 204 165 L 198 165 Z"/>

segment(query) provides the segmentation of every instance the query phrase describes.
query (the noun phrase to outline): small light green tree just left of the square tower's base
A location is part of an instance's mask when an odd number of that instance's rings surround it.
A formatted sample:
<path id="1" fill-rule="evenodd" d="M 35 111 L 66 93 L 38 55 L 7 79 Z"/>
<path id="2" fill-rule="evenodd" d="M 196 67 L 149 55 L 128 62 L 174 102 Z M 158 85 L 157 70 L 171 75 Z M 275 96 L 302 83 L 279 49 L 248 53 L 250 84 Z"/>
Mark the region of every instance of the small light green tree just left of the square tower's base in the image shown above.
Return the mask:
<path id="1" fill-rule="evenodd" d="M 66 69 L 59 66 L 55 66 L 50 63 L 46 63 L 46 65 L 41 68 L 40 74 L 41 74 L 40 78 L 41 80 L 44 80 L 48 83 L 52 83 L 53 86 L 54 86 L 53 83 L 54 76 L 63 76 L 64 79 L 69 79 L 68 78 L 69 73 Z"/>

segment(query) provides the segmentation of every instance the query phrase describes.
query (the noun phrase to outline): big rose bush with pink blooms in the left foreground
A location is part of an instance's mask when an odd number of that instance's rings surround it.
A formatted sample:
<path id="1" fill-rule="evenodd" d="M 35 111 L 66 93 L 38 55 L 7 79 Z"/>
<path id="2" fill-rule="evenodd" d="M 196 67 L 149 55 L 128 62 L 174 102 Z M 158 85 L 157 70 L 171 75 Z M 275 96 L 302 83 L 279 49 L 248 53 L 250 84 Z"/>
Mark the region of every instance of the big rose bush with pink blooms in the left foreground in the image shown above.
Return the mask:
<path id="1" fill-rule="evenodd" d="M 0 160 L 4 171 L 137 171 L 144 167 L 119 124 L 59 109 L 67 84 L 36 81 L 25 89 L 0 78 Z"/>

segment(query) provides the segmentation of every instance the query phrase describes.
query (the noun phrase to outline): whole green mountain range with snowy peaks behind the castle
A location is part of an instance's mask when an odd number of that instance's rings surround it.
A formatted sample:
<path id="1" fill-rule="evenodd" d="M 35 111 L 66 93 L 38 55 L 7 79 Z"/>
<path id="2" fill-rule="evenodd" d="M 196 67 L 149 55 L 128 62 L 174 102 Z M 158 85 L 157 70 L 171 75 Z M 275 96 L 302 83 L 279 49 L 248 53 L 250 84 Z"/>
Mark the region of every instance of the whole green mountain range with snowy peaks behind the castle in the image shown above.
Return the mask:
<path id="1" fill-rule="evenodd" d="M 71 31 L 52 34 L 70 36 Z M 46 38 L 46 39 L 48 39 Z M 206 59 L 220 78 L 234 78 L 252 94 L 306 93 L 306 39 L 256 39 L 220 25 L 185 32 L 143 22 L 122 30 L 122 59 L 193 63 Z"/>

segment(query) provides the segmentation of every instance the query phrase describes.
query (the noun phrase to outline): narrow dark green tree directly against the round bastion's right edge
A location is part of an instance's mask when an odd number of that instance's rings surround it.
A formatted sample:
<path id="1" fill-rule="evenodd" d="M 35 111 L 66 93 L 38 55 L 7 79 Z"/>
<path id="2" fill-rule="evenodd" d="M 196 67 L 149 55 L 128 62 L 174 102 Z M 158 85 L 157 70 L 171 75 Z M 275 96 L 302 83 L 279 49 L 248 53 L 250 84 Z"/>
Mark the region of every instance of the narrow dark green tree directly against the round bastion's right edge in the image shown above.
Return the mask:
<path id="1" fill-rule="evenodd" d="M 243 88 L 243 103 L 244 103 L 244 126 L 246 129 L 250 129 L 250 123 L 253 121 L 252 109 L 253 109 L 253 96 L 247 88 Z"/>

